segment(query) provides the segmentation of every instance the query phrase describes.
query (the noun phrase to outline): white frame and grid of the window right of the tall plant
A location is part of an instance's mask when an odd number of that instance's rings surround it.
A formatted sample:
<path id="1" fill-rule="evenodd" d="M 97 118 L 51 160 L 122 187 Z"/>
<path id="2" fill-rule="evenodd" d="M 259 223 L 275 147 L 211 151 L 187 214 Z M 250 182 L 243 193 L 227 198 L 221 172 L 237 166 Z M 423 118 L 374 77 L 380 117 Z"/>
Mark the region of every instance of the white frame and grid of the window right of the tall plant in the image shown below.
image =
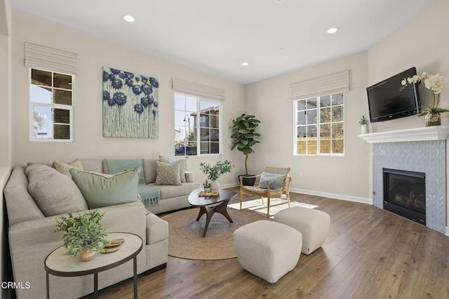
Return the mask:
<path id="1" fill-rule="evenodd" d="M 324 97 L 326 97 L 326 96 L 330 96 L 330 102 L 332 102 L 332 96 L 333 95 L 337 95 L 337 94 L 342 94 L 342 97 L 343 97 L 343 102 L 342 102 L 342 104 L 341 105 L 330 105 L 330 109 L 331 109 L 331 111 L 330 111 L 330 117 L 332 117 L 332 107 L 337 107 L 337 106 L 340 106 L 340 107 L 342 107 L 343 108 L 343 111 L 342 111 L 342 121 L 332 121 L 332 119 L 331 119 L 331 121 L 330 121 L 330 128 L 331 128 L 331 132 L 330 132 L 330 145 L 332 146 L 332 140 L 333 140 L 333 138 L 332 138 L 332 124 L 338 124 L 338 123 L 341 123 L 342 124 L 342 128 L 343 128 L 343 138 L 342 138 L 342 140 L 343 140 L 343 152 L 342 153 L 332 153 L 332 150 L 331 150 L 331 152 L 329 152 L 329 153 L 321 153 L 321 142 L 320 142 L 320 140 L 321 140 L 321 132 L 320 132 L 320 129 L 321 129 L 321 126 L 320 126 L 320 124 L 321 124 L 321 109 L 323 109 L 323 107 L 320 107 L 320 100 L 321 100 L 321 98 L 324 98 Z M 297 112 L 298 112 L 298 103 L 300 102 L 300 101 L 302 101 L 302 100 L 308 100 L 308 99 L 312 99 L 312 98 L 316 98 L 317 100 L 316 100 L 316 108 L 314 108 L 314 109 L 316 109 L 316 123 L 315 123 L 315 125 L 316 125 L 316 154 L 309 154 L 309 148 L 308 148 L 308 145 L 307 145 L 307 154 L 298 154 L 297 153 Z M 311 96 L 311 97 L 309 97 L 309 98 L 302 98 L 302 99 L 298 99 L 298 100 L 293 100 L 293 155 L 295 155 L 295 156 L 333 156 L 333 157 L 343 157 L 344 156 L 344 152 L 345 152 L 345 147 L 346 147 L 346 145 L 345 145 L 345 140 L 346 140 L 346 138 L 344 138 L 344 131 L 345 131 L 345 128 L 344 128 L 344 123 L 345 123 L 345 121 L 344 121 L 344 106 L 345 106 L 345 103 L 344 103 L 344 93 L 332 93 L 332 94 L 328 94 L 328 95 L 319 95 L 319 96 Z M 301 110 L 301 111 L 310 111 L 311 109 L 308 109 L 308 108 L 306 108 L 305 110 Z M 325 140 L 325 139 L 323 139 L 323 140 Z M 335 139 L 336 140 L 336 139 Z"/>

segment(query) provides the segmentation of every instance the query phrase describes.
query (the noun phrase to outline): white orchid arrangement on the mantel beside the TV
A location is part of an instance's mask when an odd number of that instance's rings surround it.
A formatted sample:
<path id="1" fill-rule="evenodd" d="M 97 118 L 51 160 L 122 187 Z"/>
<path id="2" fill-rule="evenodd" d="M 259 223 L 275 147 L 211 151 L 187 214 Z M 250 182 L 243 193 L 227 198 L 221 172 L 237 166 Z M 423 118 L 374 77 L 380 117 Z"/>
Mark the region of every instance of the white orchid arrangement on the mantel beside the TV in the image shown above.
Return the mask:
<path id="1" fill-rule="evenodd" d="M 443 90 L 443 76 L 440 74 L 429 74 L 427 72 L 422 72 L 422 74 L 415 74 L 413 77 L 405 78 L 401 81 L 401 91 L 406 88 L 409 84 L 417 84 L 424 81 L 424 86 L 430 90 L 430 106 L 424 107 L 422 113 L 418 117 L 422 117 L 426 114 L 441 114 L 443 112 L 449 112 L 448 109 L 438 108 L 440 103 L 440 93 Z"/>

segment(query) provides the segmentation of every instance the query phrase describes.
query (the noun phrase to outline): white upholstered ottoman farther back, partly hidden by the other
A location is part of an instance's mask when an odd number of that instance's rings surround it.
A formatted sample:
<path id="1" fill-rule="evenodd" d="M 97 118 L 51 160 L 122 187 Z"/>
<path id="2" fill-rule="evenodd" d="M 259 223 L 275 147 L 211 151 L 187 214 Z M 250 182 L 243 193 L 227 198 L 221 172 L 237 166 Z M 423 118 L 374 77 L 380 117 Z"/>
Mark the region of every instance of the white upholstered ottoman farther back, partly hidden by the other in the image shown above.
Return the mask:
<path id="1" fill-rule="evenodd" d="M 330 216 L 313 208 L 286 208 L 274 215 L 274 221 L 301 232 L 304 254 L 310 254 L 323 246 L 329 234 Z"/>

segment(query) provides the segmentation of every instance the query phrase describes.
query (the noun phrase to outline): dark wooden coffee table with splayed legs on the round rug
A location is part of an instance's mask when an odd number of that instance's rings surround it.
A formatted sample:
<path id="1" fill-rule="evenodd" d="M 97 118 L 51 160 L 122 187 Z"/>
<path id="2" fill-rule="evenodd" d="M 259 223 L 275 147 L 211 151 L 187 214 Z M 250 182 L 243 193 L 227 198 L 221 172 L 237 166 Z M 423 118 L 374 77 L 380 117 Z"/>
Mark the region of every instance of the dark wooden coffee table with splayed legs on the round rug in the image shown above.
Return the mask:
<path id="1" fill-rule="evenodd" d="M 203 214 L 207 215 L 206 225 L 204 225 L 203 237 L 206 237 L 210 218 L 214 213 L 220 213 L 226 217 L 229 222 L 233 222 L 229 214 L 227 213 L 227 204 L 229 199 L 236 196 L 237 192 L 231 190 L 220 189 L 218 190 L 217 197 L 200 197 L 199 192 L 203 191 L 203 188 L 196 189 L 189 194 L 189 204 L 191 206 L 199 206 L 199 213 L 196 221 L 198 221 Z"/>

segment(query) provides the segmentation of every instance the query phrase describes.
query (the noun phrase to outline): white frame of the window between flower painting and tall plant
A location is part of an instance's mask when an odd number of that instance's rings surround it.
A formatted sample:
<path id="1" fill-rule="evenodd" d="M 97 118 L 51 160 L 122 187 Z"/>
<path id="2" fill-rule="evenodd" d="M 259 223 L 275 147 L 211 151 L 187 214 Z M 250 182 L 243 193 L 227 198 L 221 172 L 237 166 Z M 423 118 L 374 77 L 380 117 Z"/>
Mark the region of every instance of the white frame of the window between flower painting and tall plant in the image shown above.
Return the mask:
<path id="1" fill-rule="evenodd" d="M 223 130 L 222 130 L 222 115 L 223 115 L 223 105 L 222 105 L 222 101 L 220 100 L 213 100 L 213 99 L 209 99 L 209 98 L 203 98 L 203 97 L 199 97 L 197 95 L 189 95 L 186 93 L 175 93 L 174 94 L 174 98 L 173 100 L 175 100 L 176 95 L 182 95 L 185 97 L 189 97 L 189 98 L 196 98 L 196 114 L 198 117 L 196 117 L 196 140 L 194 142 L 196 142 L 196 155 L 188 155 L 188 154 L 184 154 L 184 155 L 178 155 L 177 157 L 196 157 L 196 156 L 220 156 L 222 155 L 222 149 L 223 149 Z M 217 154 L 202 154 L 201 153 L 201 117 L 200 117 L 200 102 L 201 101 L 206 101 L 206 102 L 213 102 L 215 104 L 217 104 L 217 106 L 219 107 L 219 114 L 218 114 L 218 131 L 219 131 L 219 135 L 218 135 L 218 153 Z M 180 111 L 177 109 L 174 109 L 175 111 Z M 175 119 L 176 122 L 176 119 Z M 176 128 L 176 124 L 175 124 L 175 129 Z M 176 140 L 175 140 L 176 141 Z M 210 142 L 210 141 L 209 141 Z"/>

